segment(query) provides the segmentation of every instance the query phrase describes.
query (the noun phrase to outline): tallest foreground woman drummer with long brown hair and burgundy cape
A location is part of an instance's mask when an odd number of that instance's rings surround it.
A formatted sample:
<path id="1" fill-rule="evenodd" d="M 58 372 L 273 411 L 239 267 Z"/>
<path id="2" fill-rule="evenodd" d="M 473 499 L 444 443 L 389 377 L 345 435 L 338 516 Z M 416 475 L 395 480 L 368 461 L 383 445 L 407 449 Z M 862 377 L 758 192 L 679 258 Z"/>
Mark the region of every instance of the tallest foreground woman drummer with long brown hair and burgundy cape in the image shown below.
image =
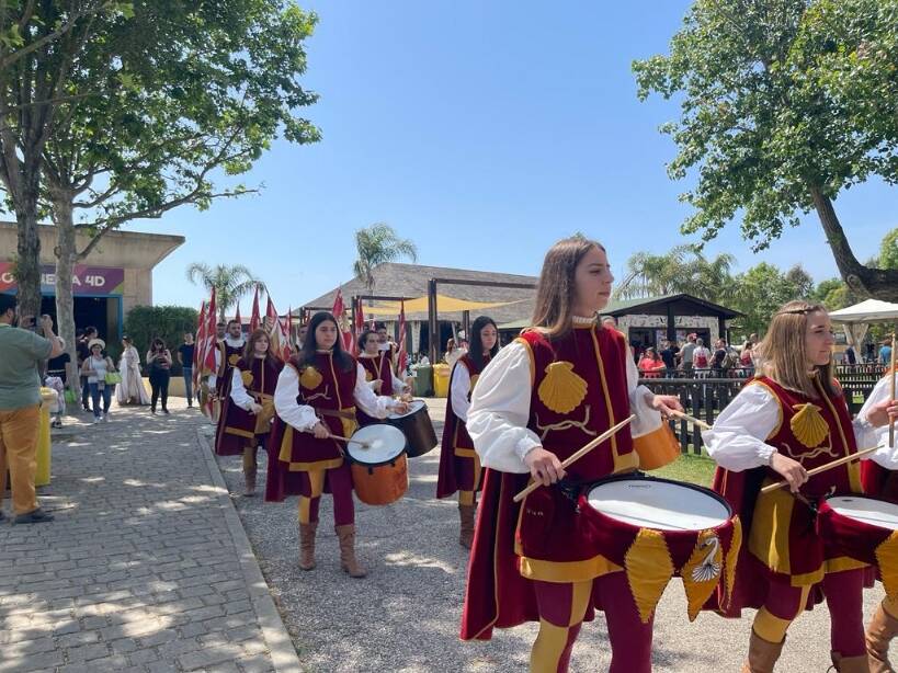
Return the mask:
<path id="1" fill-rule="evenodd" d="M 612 425 L 637 419 L 570 465 L 595 481 L 639 466 L 634 436 L 663 434 L 674 397 L 637 386 L 624 335 L 598 322 L 614 277 L 604 248 L 575 237 L 548 251 L 533 328 L 501 350 L 474 390 L 467 431 L 485 470 L 468 566 L 462 638 L 539 621 L 531 670 L 567 671 L 581 623 L 604 609 L 611 671 L 651 669 L 651 621 L 643 624 L 623 569 L 596 554 L 575 503 L 538 488 L 520 504 L 528 478 L 549 487 L 561 460 Z M 660 413 L 659 413 L 660 412 Z M 638 442 L 638 441 L 637 441 Z"/>

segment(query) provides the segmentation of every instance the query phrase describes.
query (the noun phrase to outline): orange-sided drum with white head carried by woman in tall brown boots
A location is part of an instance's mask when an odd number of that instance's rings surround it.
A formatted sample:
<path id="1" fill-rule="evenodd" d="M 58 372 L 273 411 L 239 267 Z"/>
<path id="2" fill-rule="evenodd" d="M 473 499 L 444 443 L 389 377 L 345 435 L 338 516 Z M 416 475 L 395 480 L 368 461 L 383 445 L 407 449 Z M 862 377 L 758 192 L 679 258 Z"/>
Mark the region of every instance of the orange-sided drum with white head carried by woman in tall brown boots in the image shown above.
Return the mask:
<path id="1" fill-rule="evenodd" d="M 409 488 L 406 437 L 393 425 L 367 425 L 346 443 L 352 487 L 366 504 L 389 504 Z"/>

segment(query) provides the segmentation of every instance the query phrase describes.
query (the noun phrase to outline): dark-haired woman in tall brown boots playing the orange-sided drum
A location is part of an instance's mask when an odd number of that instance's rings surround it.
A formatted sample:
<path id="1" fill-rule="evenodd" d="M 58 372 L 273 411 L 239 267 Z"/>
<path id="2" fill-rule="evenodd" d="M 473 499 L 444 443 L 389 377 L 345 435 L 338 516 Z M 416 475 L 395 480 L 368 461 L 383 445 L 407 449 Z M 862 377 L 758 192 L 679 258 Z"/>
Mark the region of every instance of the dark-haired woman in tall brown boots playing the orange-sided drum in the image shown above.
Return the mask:
<path id="1" fill-rule="evenodd" d="M 276 418 L 269 441 L 265 500 L 299 495 L 299 568 L 315 568 L 318 505 L 327 489 L 333 495 L 333 520 L 340 540 L 340 564 L 353 578 L 365 577 L 355 558 L 355 509 L 352 474 L 343 446 L 357 426 L 356 409 L 373 418 L 408 406 L 375 396 L 365 369 L 343 350 L 337 319 L 316 313 L 303 350 L 293 355 L 274 391 Z"/>

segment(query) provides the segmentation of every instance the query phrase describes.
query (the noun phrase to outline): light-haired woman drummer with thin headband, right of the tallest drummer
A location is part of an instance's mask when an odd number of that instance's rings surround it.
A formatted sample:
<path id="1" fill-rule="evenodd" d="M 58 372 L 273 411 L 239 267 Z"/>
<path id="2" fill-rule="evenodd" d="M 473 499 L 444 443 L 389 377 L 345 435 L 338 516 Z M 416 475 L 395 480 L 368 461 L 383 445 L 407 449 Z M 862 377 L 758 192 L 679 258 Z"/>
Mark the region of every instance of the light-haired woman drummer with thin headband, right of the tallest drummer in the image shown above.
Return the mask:
<path id="1" fill-rule="evenodd" d="M 774 313 L 760 345 L 759 376 L 703 433 L 720 466 L 715 490 L 740 514 L 746 550 L 736 569 L 738 616 L 758 607 L 743 671 L 773 670 L 789 624 L 826 594 L 838 671 L 867 671 L 861 594 L 864 564 L 829 551 L 816 533 L 811 505 L 825 494 L 861 492 L 857 461 L 808 478 L 807 471 L 876 446 L 873 426 L 888 423 L 889 402 L 852 423 L 832 375 L 832 327 L 826 309 L 791 301 Z M 889 452 L 873 454 L 888 465 Z M 760 493 L 773 481 L 789 488 Z M 791 492 L 789 492 L 791 489 Z"/>

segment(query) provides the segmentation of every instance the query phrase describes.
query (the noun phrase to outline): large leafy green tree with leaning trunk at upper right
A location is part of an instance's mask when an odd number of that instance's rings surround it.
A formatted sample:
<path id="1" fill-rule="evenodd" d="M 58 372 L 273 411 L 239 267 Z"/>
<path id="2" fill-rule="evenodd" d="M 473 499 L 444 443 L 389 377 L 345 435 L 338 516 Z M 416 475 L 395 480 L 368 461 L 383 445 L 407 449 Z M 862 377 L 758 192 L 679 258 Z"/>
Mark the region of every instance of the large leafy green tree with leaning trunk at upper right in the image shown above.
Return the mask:
<path id="1" fill-rule="evenodd" d="M 672 179 L 697 173 L 682 226 L 705 241 L 742 215 L 765 248 L 816 210 L 853 292 L 898 299 L 898 271 L 854 255 L 838 194 L 871 175 L 898 181 L 898 0 L 696 0 L 669 56 L 636 61 L 639 98 L 681 100 L 662 126 Z"/>

